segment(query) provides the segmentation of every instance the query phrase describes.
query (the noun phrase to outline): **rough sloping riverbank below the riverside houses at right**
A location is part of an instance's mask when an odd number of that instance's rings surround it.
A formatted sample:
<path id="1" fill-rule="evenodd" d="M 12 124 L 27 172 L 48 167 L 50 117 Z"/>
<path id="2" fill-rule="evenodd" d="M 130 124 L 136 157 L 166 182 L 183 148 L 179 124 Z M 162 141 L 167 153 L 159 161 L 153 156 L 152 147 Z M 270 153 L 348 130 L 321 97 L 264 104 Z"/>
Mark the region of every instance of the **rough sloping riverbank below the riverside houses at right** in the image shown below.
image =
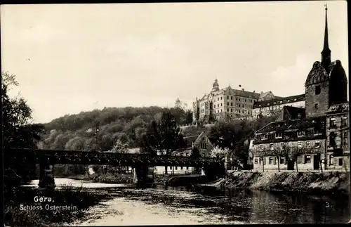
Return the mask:
<path id="1" fill-rule="evenodd" d="M 239 171 L 227 179 L 200 185 L 216 190 L 277 190 L 350 194 L 350 172 L 251 172 Z"/>

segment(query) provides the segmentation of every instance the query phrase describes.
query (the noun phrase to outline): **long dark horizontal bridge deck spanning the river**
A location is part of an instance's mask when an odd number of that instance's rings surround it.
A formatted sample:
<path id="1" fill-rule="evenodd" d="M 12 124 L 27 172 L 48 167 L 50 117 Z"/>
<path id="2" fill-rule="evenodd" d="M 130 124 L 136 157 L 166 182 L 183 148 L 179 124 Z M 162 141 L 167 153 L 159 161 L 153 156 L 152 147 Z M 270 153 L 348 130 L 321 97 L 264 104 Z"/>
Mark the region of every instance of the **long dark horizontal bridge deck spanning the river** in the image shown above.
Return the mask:
<path id="1" fill-rule="evenodd" d="M 184 166 L 199 167 L 213 162 L 223 162 L 212 157 L 183 157 L 164 156 L 149 154 L 128 154 L 111 152 L 86 152 L 77 150 L 34 150 L 34 149 L 10 149 L 4 152 L 6 162 L 48 163 L 48 164 L 109 164 L 134 166 L 147 164 L 149 166 Z"/>

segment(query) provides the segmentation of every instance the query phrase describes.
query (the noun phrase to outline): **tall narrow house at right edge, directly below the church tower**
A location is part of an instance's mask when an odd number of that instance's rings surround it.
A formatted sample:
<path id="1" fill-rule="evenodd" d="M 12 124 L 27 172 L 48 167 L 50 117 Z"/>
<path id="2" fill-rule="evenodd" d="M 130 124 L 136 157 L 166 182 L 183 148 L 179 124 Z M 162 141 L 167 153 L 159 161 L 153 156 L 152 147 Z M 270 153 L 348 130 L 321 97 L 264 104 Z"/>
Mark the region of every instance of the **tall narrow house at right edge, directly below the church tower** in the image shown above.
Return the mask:
<path id="1" fill-rule="evenodd" d="M 340 103 L 326 113 L 328 169 L 350 170 L 349 112 L 349 103 Z"/>

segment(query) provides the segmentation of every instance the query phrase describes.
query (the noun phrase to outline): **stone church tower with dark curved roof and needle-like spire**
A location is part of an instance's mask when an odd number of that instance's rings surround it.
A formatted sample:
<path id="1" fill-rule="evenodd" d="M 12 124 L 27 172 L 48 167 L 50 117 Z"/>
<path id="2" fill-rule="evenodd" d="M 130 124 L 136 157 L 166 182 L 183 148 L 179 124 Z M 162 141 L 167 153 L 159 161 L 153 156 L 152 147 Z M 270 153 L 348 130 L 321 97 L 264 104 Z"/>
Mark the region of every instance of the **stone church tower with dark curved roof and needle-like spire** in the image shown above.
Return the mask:
<path id="1" fill-rule="evenodd" d="M 321 62 L 313 63 L 305 82 L 306 117 L 325 115 L 332 104 L 347 102 L 347 77 L 340 60 L 331 62 L 326 10 Z"/>

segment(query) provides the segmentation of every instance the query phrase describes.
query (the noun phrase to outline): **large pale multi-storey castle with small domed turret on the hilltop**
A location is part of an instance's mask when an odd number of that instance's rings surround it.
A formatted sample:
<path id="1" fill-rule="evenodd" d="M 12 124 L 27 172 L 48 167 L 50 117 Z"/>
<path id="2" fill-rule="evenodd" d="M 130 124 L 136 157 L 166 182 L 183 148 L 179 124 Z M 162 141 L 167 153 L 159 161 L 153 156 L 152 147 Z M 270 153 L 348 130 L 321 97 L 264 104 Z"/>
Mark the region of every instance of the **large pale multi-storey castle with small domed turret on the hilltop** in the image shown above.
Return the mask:
<path id="1" fill-rule="evenodd" d="M 274 98 L 271 91 L 256 93 L 244 89 L 232 89 L 227 86 L 219 89 L 218 80 L 213 83 L 212 91 L 196 98 L 193 103 L 193 120 L 195 122 L 214 122 L 237 118 L 251 118 L 253 104 L 258 100 Z"/>

